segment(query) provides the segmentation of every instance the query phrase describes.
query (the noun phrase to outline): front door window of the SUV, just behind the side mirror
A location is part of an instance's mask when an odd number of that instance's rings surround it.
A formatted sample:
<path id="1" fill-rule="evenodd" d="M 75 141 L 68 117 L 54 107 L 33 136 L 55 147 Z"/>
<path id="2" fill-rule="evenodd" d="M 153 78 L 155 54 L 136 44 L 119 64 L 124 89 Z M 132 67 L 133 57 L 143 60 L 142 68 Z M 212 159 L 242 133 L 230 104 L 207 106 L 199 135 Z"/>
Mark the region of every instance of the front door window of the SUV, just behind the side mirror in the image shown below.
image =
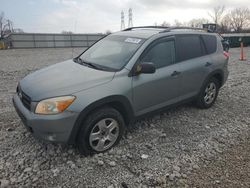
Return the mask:
<path id="1" fill-rule="evenodd" d="M 141 61 L 152 62 L 156 68 L 173 64 L 175 61 L 174 41 L 162 41 L 154 45 Z"/>

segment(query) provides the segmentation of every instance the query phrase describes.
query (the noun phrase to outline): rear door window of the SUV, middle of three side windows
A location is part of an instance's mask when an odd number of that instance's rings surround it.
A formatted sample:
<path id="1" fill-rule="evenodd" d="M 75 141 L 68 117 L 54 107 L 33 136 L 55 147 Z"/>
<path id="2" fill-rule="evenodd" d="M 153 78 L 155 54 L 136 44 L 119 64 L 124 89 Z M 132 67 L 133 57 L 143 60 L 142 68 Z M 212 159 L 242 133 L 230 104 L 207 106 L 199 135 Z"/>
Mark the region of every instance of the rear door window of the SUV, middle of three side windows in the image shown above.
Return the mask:
<path id="1" fill-rule="evenodd" d="M 204 46 L 201 43 L 199 35 L 177 35 L 176 56 L 178 62 L 200 57 L 204 54 Z"/>

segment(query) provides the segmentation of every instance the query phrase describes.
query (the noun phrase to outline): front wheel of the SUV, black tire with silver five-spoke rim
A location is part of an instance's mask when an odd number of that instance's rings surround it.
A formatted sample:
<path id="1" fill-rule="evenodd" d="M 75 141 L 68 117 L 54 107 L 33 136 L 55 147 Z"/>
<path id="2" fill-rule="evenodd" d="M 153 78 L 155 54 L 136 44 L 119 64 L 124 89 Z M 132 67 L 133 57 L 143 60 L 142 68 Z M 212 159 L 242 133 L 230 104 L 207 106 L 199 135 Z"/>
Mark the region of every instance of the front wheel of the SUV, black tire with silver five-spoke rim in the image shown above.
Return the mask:
<path id="1" fill-rule="evenodd" d="M 77 146 L 84 155 L 103 153 L 118 144 L 124 131 L 122 115 L 114 108 L 104 107 L 87 116 L 77 136 Z"/>

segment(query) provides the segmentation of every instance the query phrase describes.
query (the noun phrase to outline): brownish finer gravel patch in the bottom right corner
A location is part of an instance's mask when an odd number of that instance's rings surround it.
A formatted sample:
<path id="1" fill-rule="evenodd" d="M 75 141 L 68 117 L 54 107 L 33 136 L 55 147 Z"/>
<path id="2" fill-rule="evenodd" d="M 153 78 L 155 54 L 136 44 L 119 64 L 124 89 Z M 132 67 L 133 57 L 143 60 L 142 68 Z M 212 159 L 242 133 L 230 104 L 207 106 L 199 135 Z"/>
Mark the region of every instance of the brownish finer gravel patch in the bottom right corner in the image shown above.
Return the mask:
<path id="1" fill-rule="evenodd" d="M 190 187 L 250 187 L 250 135 L 205 161 L 188 179 Z"/>

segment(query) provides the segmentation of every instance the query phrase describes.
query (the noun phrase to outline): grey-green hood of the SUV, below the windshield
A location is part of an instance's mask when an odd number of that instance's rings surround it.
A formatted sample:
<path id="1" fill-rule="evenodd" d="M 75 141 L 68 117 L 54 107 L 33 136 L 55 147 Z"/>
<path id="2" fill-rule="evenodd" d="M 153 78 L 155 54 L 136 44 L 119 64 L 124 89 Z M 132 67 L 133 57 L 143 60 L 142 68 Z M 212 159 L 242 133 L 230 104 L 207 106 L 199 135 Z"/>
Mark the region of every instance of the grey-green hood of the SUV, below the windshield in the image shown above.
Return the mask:
<path id="1" fill-rule="evenodd" d="M 114 72 L 96 70 L 68 60 L 27 75 L 20 81 L 22 91 L 32 101 L 71 95 L 109 82 Z"/>

